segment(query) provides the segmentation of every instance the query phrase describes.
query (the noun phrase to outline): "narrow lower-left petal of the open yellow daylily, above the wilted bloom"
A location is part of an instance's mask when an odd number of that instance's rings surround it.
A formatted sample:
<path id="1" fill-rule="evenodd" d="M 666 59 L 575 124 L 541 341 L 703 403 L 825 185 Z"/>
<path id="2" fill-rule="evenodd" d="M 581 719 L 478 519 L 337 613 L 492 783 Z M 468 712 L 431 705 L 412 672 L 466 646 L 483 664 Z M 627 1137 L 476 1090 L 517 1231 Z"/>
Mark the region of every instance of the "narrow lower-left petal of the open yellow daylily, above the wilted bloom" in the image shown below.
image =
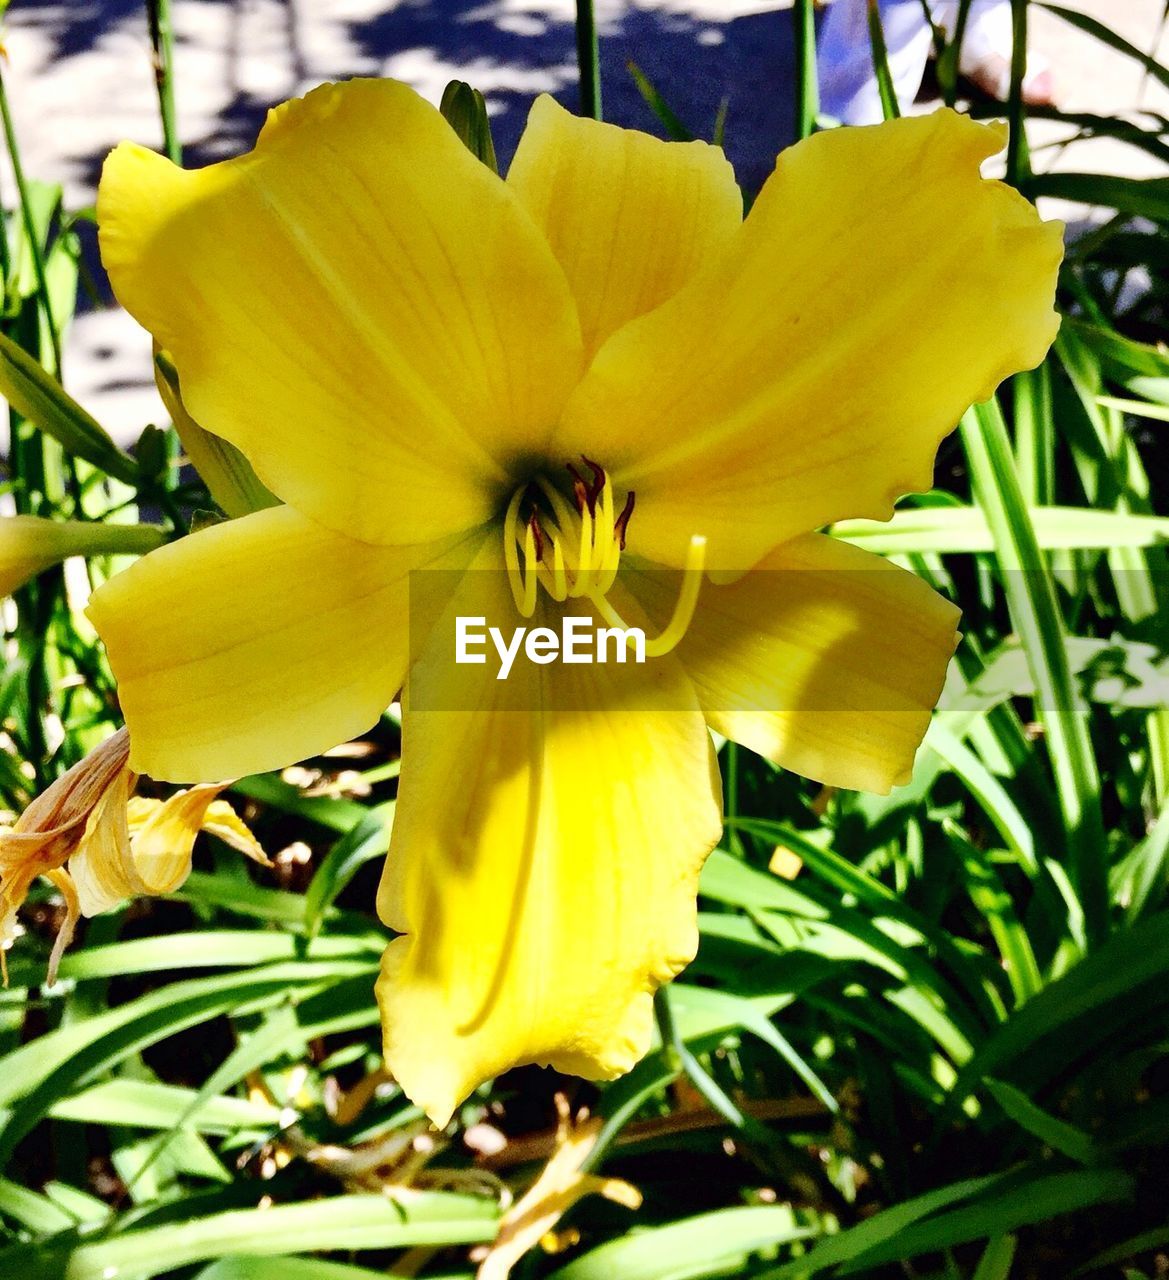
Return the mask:
<path id="1" fill-rule="evenodd" d="M 367 730 L 407 664 L 407 575 L 291 507 L 164 547 L 93 594 L 131 764 L 173 782 L 282 768 Z"/>

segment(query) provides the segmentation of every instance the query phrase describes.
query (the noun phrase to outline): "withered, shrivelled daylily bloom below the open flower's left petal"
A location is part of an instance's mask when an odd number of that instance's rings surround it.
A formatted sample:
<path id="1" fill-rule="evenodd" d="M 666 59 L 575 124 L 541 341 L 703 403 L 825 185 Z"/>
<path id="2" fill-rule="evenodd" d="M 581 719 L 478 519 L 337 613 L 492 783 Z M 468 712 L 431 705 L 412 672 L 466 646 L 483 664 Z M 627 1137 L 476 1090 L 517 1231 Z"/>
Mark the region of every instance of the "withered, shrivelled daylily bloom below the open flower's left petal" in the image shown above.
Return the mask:
<path id="1" fill-rule="evenodd" d="M 0 945 L 40 876 L 65 900 L 65 923 L 49 961 L 49 982 L 82 915 L 128 897 L 173 893 L 191 874 L 195 837 L 209 831 L 268 865 L 256 837 L 219 794 L 225 782 L 178 791 L 166 800 L 133 794 L 129 736 L 119 730 L 44 791 L 14 826 L 0 831 Z"/>

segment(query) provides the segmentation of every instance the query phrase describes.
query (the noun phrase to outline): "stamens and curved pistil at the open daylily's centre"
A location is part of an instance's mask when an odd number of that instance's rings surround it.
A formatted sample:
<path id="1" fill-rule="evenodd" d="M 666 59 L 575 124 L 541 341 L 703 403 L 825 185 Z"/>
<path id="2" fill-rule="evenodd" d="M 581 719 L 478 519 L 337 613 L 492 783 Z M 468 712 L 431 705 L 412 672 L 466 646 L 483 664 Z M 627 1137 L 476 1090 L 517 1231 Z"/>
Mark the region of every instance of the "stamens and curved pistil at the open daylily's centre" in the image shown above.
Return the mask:
<path id="1" fill-rule="evenodd" d="M 589 471 L 588 479 L 575 463 L 567 463 L 571 499 L 543 475 L 512 494 L 503 521 L 503 558 L 511 594 L 525 618 L 535 612 L 536 595 L 543 588 L 557 602 L 589 600 L 611 627 L 629 631 L 608 594 L 617 580 L 635 495 L 630 490 L 617 512 L 613 483 L 604 467 L 588 458 L 581 461 Z M 670 653 L 686 634 L 698 604 L 705 552 L 704 538 L 690 539 L 673 614 L 661 635 L 645 640 L 647 657 Z"/>

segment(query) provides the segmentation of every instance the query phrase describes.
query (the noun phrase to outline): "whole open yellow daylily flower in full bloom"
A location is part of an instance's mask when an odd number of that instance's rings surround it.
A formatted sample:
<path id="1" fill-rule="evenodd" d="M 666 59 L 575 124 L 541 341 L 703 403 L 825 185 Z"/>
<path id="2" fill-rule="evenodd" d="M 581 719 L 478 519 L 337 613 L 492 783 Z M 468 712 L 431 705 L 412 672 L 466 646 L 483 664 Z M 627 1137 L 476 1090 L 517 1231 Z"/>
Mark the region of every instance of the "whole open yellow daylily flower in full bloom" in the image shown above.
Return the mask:
<path id="1" fill-rule="evenodd" d="M 831 786 L 909 777 L 956 611 L 814 530 L 927 488 L 1052 340 L 1060 228 L 982 179 L 1001 145 L 953 111 L 818 134 L 744 221 L 704 143 L 542 97 L 502 180 L 352 81 L 198 172 L 106 161 L 119 300 L 284 503 L 95 595 L 132 764 L 283 767 L 403 690 L 378 995 L 435 1123 L 513 1064 L 645 1051 L 720 835 L 708 726 Z M 647 663 L 452 664 L 458 618 L 570 614 Z"/>

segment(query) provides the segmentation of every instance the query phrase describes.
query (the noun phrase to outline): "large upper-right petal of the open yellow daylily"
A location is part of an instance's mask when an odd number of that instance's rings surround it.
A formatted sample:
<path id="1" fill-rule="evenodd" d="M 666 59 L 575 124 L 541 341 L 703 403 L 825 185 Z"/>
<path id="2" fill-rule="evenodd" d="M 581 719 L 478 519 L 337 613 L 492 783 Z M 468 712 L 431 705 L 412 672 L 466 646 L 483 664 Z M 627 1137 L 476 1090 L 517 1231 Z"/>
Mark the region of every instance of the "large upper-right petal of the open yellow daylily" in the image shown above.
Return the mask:
<path id="1" fill-rule="evenodd" d="M 746 570 L 927 489 L 939 440 L 1055 335 L 1061 228 L 980 177 L 1001 134 L 942 110 L 785 151 L 734 247 L 615 334 L 566 410 L 635 489 L 631 550 Z"/>

